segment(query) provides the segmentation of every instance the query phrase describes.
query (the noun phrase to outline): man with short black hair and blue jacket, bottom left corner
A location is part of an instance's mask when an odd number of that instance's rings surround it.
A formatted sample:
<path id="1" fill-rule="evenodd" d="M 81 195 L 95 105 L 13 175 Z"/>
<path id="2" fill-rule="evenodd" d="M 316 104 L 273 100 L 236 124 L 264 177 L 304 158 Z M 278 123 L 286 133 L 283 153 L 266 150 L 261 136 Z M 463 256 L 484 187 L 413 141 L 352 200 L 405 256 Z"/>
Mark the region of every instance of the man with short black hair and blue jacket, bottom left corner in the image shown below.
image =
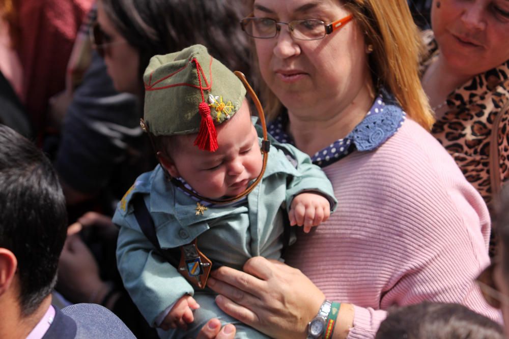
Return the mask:
<path id="1" fill-rule="evenodd" d="M 65 199 L 50 161 L 0 125 L 0 337 L 134 338 L 97 304 L 51 304 L 67 231 Z"/>

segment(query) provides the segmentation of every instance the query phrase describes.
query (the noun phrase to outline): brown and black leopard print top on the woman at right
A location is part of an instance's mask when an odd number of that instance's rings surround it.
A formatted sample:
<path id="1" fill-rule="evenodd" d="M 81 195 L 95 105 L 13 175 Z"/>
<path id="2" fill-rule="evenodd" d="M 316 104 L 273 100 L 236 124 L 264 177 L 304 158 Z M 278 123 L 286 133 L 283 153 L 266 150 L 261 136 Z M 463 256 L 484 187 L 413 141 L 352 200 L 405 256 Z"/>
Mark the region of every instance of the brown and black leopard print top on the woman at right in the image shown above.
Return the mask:
<path id="1" fill-rule="evenodd" d="M 438 46 L 433 32 L 422 33 L 426 53 L 420 74 L 437 59 Z M 497 114 L 503 114 L 498 129 L 501 181 L 509 177 L 509 109 L 501 112 L 509 100 L 509 60 L 479 74 L 447 97 L 448 111 L 435 122 L 432 134 L 447 149 L 467 180 L 483 196 L 492 210 L 490 184 L 490 135 Z"/>

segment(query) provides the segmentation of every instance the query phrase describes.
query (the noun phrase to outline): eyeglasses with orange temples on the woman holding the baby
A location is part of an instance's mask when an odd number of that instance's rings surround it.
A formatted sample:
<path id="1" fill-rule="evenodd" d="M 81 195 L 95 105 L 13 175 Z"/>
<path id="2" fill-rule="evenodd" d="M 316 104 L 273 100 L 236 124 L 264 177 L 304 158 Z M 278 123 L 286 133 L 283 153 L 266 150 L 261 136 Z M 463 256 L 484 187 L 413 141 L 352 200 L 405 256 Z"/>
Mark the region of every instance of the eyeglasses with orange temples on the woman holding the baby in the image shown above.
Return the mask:
<path id="1" fill-rule="evenodd" d="M 353 19 L 348 15 L 342 19 L 326 24 L 318 19 L 292 20 L 290 22 L 277 22 L 269 18 L 247 17 L 240 21 L 242 30 L 250 37 L 257 39 L 270 39 L 277 36 L 281 25 L 288 25 L 290 34 L 299 40 L 319 40 L 325 38 L 335 30 L 339 30 Z"/>

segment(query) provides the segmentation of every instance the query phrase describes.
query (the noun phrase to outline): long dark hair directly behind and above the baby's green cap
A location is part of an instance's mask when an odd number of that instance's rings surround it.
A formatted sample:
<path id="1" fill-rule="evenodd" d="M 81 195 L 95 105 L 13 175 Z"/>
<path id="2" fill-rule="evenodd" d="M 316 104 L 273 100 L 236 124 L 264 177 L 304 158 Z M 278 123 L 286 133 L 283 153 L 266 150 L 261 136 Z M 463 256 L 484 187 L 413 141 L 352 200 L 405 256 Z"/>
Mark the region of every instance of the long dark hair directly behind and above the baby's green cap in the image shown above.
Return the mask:
<path id="1" fill-rule="evenodd" d="M 247 37 L 235 0 L 101 0 L 119 33 L 139 51 L 139 79 L 156 54 L 202 44 L 231 70 L 249 73 Z M 140 83 L 141 85 L 141 83 Z"/>

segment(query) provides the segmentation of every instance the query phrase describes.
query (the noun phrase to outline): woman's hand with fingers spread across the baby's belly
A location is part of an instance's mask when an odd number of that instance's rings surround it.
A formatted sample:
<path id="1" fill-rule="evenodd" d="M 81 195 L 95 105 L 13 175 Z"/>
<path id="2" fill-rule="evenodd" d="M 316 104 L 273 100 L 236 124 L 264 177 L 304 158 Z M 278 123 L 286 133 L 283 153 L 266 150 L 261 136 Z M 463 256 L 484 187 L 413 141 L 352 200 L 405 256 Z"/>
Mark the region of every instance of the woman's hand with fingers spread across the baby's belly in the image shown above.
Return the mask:
<path id="1" fill-rule="evenodd" d="M 220 267 L 207 286 L 223 312 L 276 338 L 304 338 L 325 299 L 300 270 L 263 257 L 249 259 L 244 272 Z"/>

